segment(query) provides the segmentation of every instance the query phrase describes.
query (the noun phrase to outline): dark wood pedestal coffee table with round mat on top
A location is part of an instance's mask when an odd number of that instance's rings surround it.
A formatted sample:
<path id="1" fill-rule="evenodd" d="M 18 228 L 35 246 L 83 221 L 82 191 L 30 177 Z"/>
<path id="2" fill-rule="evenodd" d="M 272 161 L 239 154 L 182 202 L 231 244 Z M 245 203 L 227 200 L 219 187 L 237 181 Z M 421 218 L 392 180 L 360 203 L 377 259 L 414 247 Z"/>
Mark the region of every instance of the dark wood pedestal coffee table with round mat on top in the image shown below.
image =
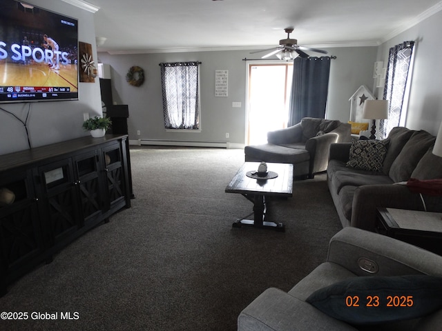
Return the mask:
<path id="1" fill-rule="evenodd" d="M 245 162 L 235 177 L 227 185 L 227 193 L 240 193 L 253 203 L 253 220 L 238 219 L 233 228 L 242 225 L 254 226 L 276 231 L 285 231 L 282 223 L 266 220 L 267 197 L 292 197 L 293 192 L 293 164 L 267 163 L 269 172 L 276 172 L 278 177 L 273 179 L 254 179 L 247 177 L 247 172 L 257 170 L 259 162 Z M 251 214 L 249 215 L 251 216 Z"/>

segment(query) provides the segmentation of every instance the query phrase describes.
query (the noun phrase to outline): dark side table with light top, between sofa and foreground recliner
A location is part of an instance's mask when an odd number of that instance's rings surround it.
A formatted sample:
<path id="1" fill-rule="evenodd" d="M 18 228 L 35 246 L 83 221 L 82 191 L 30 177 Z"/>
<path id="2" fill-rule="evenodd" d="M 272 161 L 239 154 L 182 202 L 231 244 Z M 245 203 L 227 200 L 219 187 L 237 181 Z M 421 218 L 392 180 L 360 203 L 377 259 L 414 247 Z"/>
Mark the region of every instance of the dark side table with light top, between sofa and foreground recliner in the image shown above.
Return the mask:
<path id="1" fill-rule="evenodd" d="M 377 208 L 376 232 L 442 255 L 442 213 Z"/>

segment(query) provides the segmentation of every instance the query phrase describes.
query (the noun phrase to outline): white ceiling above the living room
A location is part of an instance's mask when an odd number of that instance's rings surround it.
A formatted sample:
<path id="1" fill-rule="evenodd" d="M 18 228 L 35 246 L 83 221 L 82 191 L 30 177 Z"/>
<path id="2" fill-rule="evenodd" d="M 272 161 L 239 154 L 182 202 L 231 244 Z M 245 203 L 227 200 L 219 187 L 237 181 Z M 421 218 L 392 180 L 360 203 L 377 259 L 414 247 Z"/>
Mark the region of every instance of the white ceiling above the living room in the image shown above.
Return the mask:
<path id="1" fill-rule="evenodd" d="M 442 9 L 441 0 L 63 0 L 95 12 L 99 51 L 376 46 Z"/>

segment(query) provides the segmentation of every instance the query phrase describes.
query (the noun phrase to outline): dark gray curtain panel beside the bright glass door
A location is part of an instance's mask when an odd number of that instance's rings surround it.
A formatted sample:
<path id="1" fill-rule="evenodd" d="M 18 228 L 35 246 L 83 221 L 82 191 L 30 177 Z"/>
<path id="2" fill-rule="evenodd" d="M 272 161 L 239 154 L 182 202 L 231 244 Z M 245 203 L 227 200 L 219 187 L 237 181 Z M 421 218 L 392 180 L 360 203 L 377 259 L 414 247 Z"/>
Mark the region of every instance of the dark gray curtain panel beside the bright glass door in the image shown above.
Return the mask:
<path id="1" fill-rule="evenodd" d="M 325 118 L 330 61 L 330 57 L 294 59 L 288 126 L 304 117 Z"/>

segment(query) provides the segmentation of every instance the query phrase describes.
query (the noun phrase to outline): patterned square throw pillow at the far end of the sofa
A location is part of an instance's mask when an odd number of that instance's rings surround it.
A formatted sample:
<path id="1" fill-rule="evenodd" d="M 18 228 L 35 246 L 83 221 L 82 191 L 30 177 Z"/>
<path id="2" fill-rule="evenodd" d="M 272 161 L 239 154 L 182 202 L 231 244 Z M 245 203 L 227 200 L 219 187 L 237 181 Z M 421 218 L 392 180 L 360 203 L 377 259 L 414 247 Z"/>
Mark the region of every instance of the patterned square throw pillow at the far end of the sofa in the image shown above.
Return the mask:
<path id="1" fill-rule="evenodd" d="M 350 147 L 347 166 L 370 171 L 382 171 L 390 139 L 356 140 Z"/>

